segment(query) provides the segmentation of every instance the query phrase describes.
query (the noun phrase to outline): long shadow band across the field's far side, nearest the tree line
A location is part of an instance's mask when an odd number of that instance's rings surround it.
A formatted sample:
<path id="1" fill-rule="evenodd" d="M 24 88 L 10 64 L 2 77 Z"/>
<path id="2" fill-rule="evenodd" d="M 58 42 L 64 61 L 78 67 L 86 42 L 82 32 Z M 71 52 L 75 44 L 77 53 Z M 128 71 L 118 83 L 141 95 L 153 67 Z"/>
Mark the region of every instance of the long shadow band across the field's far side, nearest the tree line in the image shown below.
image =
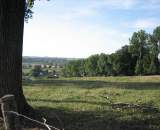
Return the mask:
<path id="1" fill-rule="evenodd" d="M 35 80 L 32 82 L 24 82 L 25 86 L 56 86 L 56 87 L 80 87 L 87 89 L 116 87 L 135 90 L 156 90 L 160 89 L 160 82 L 107 82 L 107 81 L 91 81 L 91 80 Z"/>

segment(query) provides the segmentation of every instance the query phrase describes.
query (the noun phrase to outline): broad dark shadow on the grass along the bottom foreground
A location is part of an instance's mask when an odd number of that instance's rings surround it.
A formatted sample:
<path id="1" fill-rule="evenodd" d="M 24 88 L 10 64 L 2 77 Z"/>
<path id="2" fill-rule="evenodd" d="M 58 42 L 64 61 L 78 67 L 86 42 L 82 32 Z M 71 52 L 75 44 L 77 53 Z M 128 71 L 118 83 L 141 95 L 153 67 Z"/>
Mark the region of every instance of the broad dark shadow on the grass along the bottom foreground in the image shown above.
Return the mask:
<path id="1" fill-rule="evenodd" d="M 48 123 L 65 130 L 159 130 L 160 115 L 152 118 L 134 117 L 130 120 L 121 119 L 120 112 L 108 110 L 66 111 L 39 107 L 38 112 L 45 116 Z M 58 119 L 56 119 L 58 117 Z"/>

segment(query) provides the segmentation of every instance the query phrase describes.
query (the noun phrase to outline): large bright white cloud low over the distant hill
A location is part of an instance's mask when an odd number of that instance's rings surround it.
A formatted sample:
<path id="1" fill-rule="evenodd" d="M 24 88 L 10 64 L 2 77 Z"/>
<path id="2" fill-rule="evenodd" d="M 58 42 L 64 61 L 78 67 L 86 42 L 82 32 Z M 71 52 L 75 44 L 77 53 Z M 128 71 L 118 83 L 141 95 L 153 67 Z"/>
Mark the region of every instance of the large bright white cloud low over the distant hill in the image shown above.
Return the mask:
<path id="1" fill-rule="evenodd" d="M 112 53 L 128 43 L 128 35 L 109 27 L 62 22 L 25 25 L 24 55 L 88 57 Z"/>

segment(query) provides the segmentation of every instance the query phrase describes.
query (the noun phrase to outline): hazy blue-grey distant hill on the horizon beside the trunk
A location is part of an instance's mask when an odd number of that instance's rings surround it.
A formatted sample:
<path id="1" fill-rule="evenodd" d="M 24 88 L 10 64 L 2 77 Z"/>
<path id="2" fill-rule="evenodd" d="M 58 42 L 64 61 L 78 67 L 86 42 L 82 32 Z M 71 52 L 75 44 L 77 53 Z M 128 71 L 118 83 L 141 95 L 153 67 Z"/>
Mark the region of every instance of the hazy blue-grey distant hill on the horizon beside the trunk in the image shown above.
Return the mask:
<path id="1" fill-rule="evenodd" d="M 52 64 L 64 65 L 75 58 L 57 58 L 57 57 L 32 57 L 23 56 L 23 64 Z"/>

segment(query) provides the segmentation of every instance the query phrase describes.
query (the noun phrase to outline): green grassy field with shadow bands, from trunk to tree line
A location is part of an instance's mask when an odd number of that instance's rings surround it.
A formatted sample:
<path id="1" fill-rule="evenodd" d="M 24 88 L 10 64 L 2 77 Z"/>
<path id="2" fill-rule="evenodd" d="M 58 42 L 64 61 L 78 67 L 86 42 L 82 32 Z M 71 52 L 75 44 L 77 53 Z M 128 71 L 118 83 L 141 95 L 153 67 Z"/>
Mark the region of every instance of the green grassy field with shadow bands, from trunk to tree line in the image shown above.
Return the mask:
<path id="1" fill-rule="evenodd" d="M 39 79 L 24 93 L 65 130 L 160 129 L 160 76 Z"/>

